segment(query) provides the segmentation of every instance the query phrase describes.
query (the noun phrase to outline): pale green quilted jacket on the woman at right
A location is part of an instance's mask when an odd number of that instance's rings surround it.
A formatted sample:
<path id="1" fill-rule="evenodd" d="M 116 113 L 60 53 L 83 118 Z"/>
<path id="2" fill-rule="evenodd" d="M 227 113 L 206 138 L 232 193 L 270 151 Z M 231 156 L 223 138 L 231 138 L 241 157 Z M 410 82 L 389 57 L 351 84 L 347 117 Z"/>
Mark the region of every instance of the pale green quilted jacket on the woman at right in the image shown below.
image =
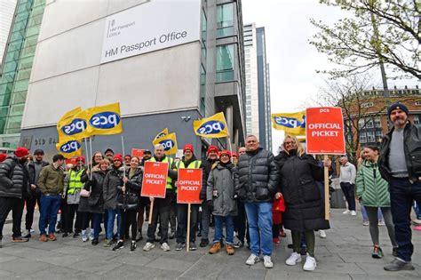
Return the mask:
<path id="1" fill-rule="evenodd" d="M 382 178 L 376 163 L 364 161 L 355 180 L 361 204 L 371 207 L 390 207 L 389 183 Z"/>

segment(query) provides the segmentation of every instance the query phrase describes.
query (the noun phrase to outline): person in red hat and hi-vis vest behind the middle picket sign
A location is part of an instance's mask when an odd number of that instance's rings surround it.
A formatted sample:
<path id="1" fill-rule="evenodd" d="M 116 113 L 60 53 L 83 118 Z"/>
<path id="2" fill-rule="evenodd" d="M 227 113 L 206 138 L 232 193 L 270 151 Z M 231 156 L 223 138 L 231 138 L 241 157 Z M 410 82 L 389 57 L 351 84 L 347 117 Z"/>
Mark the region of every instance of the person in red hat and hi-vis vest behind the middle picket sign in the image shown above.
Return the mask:
<path id="1" fill-rule="evenodd" d="M 194 154 L 195 149 L 192 144 L 186 144 L 183 147 L 183 157 L 176 164 L 177 169 L 180 168 L 203 168 L 202 161 L 197 160 Z M 202 188 L 202 186 L 201 186 Z M 190 243 L 189 248 L 192 251 L 197 249 L 195 244 L 197 216 L 199 214 L 199 204 L 191 205 L 191 223 L 187 225 L 187 204 L 177 204 L 177 245 L 175 250 L 180 251 L 186 246 L 187 227 L 190 227 Z"/>

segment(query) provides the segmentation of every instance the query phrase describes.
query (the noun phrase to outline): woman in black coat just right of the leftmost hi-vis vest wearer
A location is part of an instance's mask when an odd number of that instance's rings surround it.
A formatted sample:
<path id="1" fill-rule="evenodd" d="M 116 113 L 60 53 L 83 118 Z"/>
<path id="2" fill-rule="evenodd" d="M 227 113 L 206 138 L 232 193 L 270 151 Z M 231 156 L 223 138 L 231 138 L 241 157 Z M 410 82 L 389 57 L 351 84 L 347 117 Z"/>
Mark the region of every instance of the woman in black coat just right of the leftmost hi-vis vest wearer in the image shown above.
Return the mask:
<path id="1" fill-rule="evenodd" d="M 99 229 L 101 226 L 102 214 L 104 213 L 104 196 L 102 195 L 104 178 L 107 175 L 109 161 L 103 159 L 98 165 L 92 167 L 91 179 L 88 180 L 84 189 L 90 191 L 90 196 L 87 197 L 87 212 L 91 212 L 93 224 L 93 240 L 92 245 L 99 243 Z"/>

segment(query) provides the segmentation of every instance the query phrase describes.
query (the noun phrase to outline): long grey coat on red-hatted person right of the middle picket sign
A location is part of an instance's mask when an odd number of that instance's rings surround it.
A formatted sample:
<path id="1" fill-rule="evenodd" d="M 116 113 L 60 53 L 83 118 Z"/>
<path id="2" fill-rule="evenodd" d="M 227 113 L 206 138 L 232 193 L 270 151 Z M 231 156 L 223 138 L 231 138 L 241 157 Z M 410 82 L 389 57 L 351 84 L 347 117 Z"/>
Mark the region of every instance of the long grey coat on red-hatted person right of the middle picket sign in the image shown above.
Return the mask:
<path id="1" fill-rule="evenodd" d="M 236 216 L 238 213 L 237 201 L 234 198 L 234 172 L 234 164 L 218 163 L 209 174 L 206 200 L 213 200 L 213 215 L 225 217 Z"/>

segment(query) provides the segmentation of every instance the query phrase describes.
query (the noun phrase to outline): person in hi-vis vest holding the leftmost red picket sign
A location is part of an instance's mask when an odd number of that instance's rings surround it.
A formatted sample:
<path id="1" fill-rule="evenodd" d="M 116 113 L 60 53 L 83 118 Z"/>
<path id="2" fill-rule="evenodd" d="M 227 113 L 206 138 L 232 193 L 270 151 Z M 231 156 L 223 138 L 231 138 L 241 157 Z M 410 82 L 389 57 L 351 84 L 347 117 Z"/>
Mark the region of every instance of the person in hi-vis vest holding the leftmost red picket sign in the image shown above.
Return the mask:
<path id="1" fill-rule="evenodd" d="M 154 156 L 150 159 L 150 162 L 168 163 L 168 176 L 165 197 L 149 197 L 151 203 L 154 202 L 154 207 L 152 210 L 152 220 L 149 220 L 149 226 L 147 227 L 147 244 L 143 247 L 143 251 L 150 251 L 155 248 L 155 229 L 159 214 L 161 224 L 161 249 L 163 249 L 164 252 L 168 252 L 171 250 L 168 245 L 168 223 L 170 220 L 171 200 L 173 199 L 175 192 L 173 180 L 177 179 L 177 170 L 172 158 L 165 156 L 162 144 L 155 145 Z"/>

